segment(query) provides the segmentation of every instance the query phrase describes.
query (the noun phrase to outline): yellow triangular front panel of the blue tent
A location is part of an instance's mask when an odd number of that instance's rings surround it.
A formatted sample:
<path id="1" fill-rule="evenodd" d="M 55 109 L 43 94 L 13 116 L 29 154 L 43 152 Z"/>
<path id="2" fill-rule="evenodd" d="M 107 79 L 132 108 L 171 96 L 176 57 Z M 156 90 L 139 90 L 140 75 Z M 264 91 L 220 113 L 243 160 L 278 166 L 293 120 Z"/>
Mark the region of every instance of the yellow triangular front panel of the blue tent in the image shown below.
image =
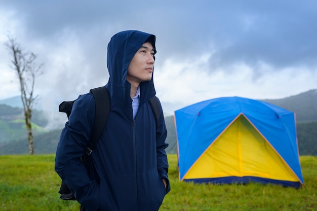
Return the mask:
<path id="1" fill-rule="evenodd" d="M 295 173 L 254 126 L 240 115 L 220 134 L 183 179 L 259 177 L 298 182 Z"/>

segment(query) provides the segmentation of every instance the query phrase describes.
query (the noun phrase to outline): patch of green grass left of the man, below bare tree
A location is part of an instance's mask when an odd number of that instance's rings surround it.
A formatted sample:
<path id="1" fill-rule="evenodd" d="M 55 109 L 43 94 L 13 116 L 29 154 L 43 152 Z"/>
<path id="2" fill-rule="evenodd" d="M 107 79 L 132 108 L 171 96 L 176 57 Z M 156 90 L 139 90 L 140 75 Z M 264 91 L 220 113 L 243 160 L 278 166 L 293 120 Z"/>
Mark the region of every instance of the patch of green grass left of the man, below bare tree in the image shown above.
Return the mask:
<path id="1" fill-rule="evenodd" d="M 0 156 L 0 210 L 78 210 L 59 199 L 54 155 Z"/>

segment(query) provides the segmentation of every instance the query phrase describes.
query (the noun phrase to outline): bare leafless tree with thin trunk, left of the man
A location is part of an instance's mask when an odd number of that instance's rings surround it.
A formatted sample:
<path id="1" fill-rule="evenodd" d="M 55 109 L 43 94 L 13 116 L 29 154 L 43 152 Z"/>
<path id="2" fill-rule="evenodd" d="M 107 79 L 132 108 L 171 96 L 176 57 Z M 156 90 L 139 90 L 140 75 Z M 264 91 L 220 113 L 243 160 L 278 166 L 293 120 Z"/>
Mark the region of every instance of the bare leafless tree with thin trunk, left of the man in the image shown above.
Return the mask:
<path id="1" fill-rule="evenodd" d="M 20 81 L 21 99 L 23 102 L 25 125 L 28 135 L 29 154 L 34 154 L 33 134 L 32 134 L 32 110 L 38 96 L 34 96 L 34 82 L 35 78 L 42 75 L 43 63 L 37 64 L 35 62 L 36 55 L 32 52 L 24 52 L 20 45 L 12 36 L 8 35 L 8 42 L 5 46 L 12 54 L 12 69 L 17 73 Z"/>

